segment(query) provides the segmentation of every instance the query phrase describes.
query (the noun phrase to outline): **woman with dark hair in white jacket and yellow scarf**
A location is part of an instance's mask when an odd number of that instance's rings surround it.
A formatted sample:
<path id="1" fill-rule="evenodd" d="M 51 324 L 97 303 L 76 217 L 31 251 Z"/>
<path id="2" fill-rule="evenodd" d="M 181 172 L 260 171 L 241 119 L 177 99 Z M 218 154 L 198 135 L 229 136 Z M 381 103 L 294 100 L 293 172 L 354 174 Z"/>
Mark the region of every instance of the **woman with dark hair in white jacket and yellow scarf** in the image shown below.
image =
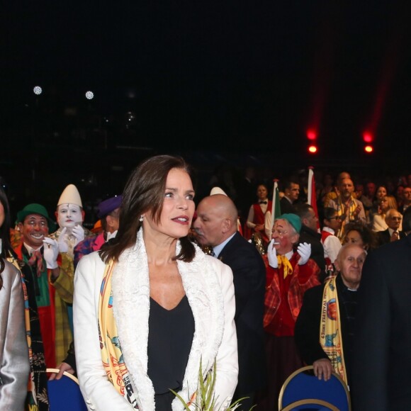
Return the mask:
<path id="1" fill-rule="evenodd" d="M 215 410 L 237 385 L 232 271 L 188 238 L 195 205 L 181 157 L 142 162 L 123 192 L 120 227 L 79 262 L 77 374 L 89 410 L 195 409 L 198 371 L 216 364 Z"/>

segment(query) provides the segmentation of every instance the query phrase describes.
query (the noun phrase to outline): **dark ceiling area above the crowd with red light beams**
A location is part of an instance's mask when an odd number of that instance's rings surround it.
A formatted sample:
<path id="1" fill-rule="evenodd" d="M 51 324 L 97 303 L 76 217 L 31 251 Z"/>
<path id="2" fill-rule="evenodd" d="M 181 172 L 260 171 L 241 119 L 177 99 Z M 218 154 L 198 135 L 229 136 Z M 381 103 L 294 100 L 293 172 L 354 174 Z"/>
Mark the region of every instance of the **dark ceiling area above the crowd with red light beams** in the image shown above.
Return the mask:
<path id="1" fill-rule="evenodd" d="M 0 14 L 0 175 L 123 186 L 159 152 L 207 172 L 218 162 L 273 174 L 308 164 L 408 171 L 406 4 L 9 1 Z M 313 157 L 308 128 L 318 135 Z"/>

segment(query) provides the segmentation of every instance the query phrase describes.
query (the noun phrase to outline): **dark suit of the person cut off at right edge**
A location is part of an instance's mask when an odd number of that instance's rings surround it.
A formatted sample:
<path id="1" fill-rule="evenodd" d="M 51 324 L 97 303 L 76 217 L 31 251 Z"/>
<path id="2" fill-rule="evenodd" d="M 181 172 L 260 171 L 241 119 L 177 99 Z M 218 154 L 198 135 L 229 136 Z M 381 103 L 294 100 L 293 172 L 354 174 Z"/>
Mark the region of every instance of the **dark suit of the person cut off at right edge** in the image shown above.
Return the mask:
<path id="1" fill-rule="evenodd" d="M 366 257 L 351 362 L 353 411 L 410 410 L 411 235 Z"/>

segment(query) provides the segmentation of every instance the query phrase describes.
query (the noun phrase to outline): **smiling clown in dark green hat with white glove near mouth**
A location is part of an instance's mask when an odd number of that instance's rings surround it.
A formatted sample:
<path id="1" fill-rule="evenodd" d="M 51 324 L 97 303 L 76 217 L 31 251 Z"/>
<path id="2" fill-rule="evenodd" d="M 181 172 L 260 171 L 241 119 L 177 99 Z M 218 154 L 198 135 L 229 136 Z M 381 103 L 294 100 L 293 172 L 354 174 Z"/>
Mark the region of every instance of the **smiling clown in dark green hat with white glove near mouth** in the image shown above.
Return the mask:
<path id="1" fill-rule="evenodd" d="M 62 342 L 72 340 L 66 305 L 72 303 L 73 278 L 64 268 L 57 241 L 49 237 L 56 225 L 44 205 L 26 205 L 18 211 L 16 223 L 21 243 L 14 251 L 26 282 L 28 299 L 35 300 L 38 309 L 38 313 L 34 313 L 32 305 L 29 313 L 40 320 L 45 364 L 47 368 L 55 368 L 67 351 L 65 346 L 62 348 Z"/>

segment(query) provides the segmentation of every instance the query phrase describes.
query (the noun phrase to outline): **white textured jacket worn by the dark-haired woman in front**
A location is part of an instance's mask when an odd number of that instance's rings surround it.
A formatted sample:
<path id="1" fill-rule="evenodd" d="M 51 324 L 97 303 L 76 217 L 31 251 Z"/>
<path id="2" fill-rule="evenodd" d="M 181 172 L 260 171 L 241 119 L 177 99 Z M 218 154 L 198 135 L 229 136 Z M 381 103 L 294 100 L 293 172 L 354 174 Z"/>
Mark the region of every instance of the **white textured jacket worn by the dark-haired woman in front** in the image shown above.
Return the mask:
<path id="1" fill-rule="evenodd" d="M 206 372 L 216 358 L 215 398 L 217 409 L 225 410 L 230 405 L 238 376 L 232 271 L 195 247 L 196 257 L 191 263 L 177 261 L 196 327 L 179 395 L 188 400 L 197 387 L 200 360 Z M 177 253 L 180 248 L 178 242 Z M 97 322 L 104 269 L 98 252 L 93 252 L 79 261 L 74 276 L 77 375 L 89 410 L 130 411 L 133 407 L 108 381 L 101 362 Z M 121 254 L 113 269 L 112 292 L 118 337 L 138 407 L 142 411 L 154 411 L 154 388 L 147 376 L 150 281 L 142 230 L 137 234 L 135 245 Z M 178 398 L 174 399 L 172 410 L 184 410 Z"/>

